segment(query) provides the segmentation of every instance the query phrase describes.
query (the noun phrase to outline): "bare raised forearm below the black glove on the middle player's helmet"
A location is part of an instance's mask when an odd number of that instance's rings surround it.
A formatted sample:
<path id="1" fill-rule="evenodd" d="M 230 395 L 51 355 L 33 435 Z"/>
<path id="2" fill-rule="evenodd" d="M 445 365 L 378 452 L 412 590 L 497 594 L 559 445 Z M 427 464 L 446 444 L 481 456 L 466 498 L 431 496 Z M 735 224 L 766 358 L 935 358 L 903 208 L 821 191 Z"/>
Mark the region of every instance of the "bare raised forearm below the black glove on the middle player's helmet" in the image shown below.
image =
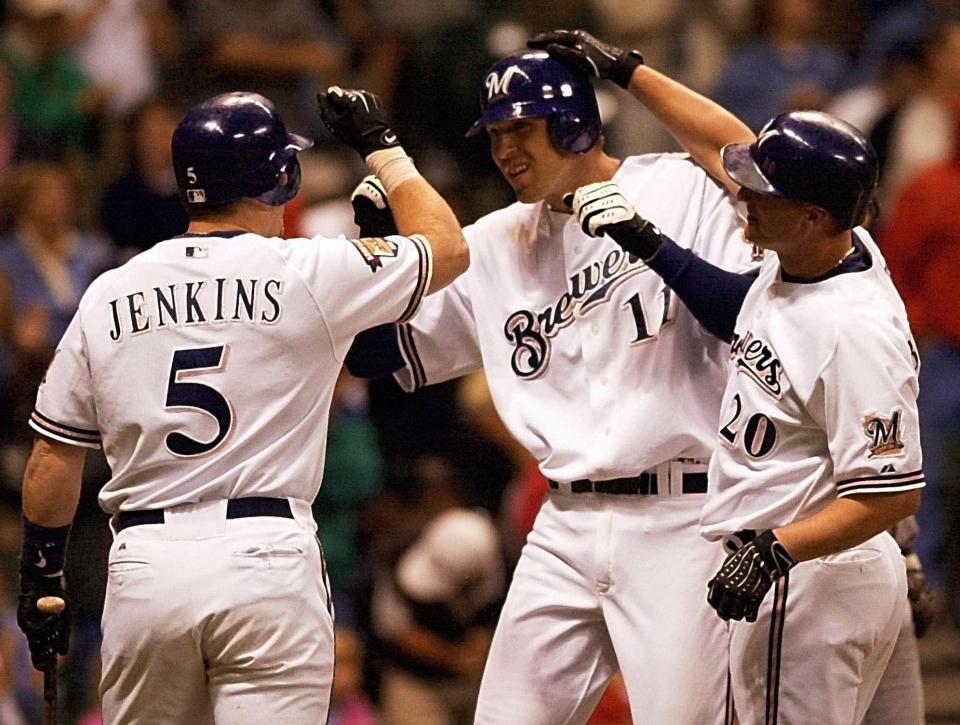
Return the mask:
<path id="1" fill-rule="evenodd" d="M 756 138 L 745 123 L 706 96 L 646 65 L 634 70 L 628 90 L 697 163 L 736 193 L 737 185 L 723 170 L 720 149 Z"/>

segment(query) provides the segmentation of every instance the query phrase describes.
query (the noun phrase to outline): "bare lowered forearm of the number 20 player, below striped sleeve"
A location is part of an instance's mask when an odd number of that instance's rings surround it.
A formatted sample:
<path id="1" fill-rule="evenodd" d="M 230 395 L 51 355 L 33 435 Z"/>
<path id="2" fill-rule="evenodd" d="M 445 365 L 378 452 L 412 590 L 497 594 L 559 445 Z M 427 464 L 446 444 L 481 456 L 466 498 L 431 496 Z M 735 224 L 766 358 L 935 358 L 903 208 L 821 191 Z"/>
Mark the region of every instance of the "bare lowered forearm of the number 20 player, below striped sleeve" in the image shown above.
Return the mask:
<path id="1" fill-rule="evenodd" d="M 838 498 L 813 516 L 774 534 L 797 561 L 816 559 L 861 544 L 916 513 L 918 489 Z"/>

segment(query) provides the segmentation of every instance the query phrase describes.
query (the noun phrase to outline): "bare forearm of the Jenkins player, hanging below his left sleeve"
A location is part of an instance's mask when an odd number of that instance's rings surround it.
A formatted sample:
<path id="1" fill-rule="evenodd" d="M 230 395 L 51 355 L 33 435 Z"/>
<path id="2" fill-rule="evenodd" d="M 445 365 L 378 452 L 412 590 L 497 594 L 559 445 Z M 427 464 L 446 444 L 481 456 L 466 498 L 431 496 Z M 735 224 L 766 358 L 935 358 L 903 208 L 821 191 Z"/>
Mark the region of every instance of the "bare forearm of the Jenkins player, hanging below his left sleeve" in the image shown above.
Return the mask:
<path id="1" fill-rule="evenodd" d="M 23 474 L 23 515 L 38 525 L 66 526 L 80 500 L 87 449 L 37 438 Z"/>

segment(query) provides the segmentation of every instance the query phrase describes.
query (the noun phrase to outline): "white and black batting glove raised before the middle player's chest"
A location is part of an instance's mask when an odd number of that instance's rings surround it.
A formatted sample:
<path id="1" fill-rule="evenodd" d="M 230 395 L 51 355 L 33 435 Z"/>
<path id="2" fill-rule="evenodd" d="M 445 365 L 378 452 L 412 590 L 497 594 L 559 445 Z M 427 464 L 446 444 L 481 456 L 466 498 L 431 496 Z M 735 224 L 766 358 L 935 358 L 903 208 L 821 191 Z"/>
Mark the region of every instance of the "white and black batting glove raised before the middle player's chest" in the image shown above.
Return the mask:
<path id="1" fill-rule="evenodd" d="M 614 182 L 581 186 L 563 200 L 573 209 L 584 234 L 591 237 L 606 234 L 625 251 L 645 261 L 660 251 L 663 241 L 660 230 L 637 214 Z"/>

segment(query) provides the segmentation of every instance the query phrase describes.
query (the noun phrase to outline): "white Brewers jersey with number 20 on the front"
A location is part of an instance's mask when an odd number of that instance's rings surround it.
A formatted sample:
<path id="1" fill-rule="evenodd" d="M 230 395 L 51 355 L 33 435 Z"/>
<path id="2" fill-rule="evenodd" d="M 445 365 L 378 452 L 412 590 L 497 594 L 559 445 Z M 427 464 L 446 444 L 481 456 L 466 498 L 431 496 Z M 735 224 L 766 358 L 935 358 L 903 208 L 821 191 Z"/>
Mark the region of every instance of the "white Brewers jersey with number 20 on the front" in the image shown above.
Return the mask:
<path id="1" fill-rule="evenodd" d="M 869 269 L 784 282 L 768 254 L 737 317 L 701 519 L 708 539 L 804 519 L 837 497 L 923 486 L 919 358 L 866 231 Z"/>

